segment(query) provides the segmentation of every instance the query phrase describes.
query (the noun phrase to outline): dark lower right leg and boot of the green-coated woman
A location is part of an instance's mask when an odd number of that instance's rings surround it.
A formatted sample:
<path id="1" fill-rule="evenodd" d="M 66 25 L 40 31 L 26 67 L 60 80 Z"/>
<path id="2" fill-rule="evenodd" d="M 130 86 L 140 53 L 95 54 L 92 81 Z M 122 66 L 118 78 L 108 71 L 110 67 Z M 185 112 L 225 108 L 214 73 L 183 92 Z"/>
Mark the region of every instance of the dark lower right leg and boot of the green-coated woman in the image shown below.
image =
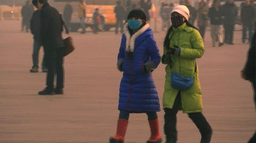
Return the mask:
<path id="1" fill-rule="evenodd" d="M 198 113 L 188 113 L 190 119 L 196 124 L 196 127 L 199 129 L 201 133 L 201 141 L 200 143 L 210 143 L 212 128 L 210 124 L 207 122 L 206 118 L 201 112 Z"/>

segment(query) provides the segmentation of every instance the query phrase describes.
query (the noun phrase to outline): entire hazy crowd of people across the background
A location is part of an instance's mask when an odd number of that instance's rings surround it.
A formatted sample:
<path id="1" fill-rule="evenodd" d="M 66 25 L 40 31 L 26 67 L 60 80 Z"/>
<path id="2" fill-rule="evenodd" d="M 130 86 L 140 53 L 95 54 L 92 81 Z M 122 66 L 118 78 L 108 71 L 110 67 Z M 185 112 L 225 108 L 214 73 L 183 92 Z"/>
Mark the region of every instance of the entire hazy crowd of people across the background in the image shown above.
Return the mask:
<path id="1" fill-rule="evenodd" d="M 151 0 L 140 0 L 140 2 L 133 2 L 131 0 L 126 0 L 125 4 L 121 4 L 120 0 L 116 1 L 116 6 L 114 7 L 114 13 L 116 16 L 116 26 L 115 33 L 118 34 L 118 28 L 120 27 L 120 33 L 123 32 L 124 23 L 127 23 L 126 17 L 128 13 L 133 9 L 141 9 L 144 11 L 147 21 L 150 21 L 151 13 L 149 10 L 152 8 Z M 195 3 L 195 7 L 192 6 L 191 0 L 180 0 L 179 5 L 186 6 L 190 11 L 189 23 L 197 26 L 200 31 L 202 38 L 205 37 L 205 32 L 208 26 L 210 26 L 210 36 L 211 45 L 222 46 L 225 44 L 233 45 L 233 33 L 235 30 L 235 24 L 242 25 L 242 43 L 250 42 L 252 39 L 252 33 L 255 25 L 255 6 L 254 2 L 250 0 L 244 0 L 241 3 L 240 8 L 233 2 L 233 0 L 227 0 L 225 4 L 221 5 L 219 0 L 213 0 L 211 6 L 211 0 L 199 0 Z M 162 2 L 159 10 L 159 15 L 162 19 L 161 30 L 166 31 L 171 26 L 170 13 L 172 9 L 176 6 L 172 1 L 170 3 Z M 240 9 L 240 19 L 238 17 Z M 22 14 L 22 28 L 28 32 L 29 21 L 33 14 L 33 5 L 31 5 L 30 0 L 28 0 L 21 10 Z M 64 11 L 63 18 L 68 27 L 71 28 L 71 19 L 73 8 L 70 2 L 67 2 Z M 100 9 L 96 8 L 93 13 L 93 33 L 97 34 L 100 31 L 99 24 L 101 23 L 102 15 L 99 12 Z M 80 20 L 81 34 L 86 32 L 86 3 L 81 0 L 78 5 L 78 18 Z M 197 23 L 195 23 L 197 22 Z"/>

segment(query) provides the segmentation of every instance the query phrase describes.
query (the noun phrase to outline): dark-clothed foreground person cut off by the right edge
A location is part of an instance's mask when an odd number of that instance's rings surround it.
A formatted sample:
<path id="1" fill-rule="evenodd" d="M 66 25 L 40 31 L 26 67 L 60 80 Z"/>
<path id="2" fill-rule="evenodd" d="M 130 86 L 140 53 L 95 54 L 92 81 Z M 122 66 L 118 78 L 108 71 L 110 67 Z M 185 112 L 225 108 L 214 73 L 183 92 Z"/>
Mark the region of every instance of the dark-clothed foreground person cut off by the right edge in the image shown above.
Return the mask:
<path id="1" fill-rule="evenodd" d="M 250 81 L 252 83 L 252 87 L 254 88 L 254 106 L 256 109 L 256 30 L 254 32 L 254 36 L 251 41 L 250 49 L 248 51 L 248 57 L 244 69 L 241 71 L 241 76 L 246 81 Z M 256 143 L 256 131 L 252 138 L 248 141 L 248 143 Z"/>

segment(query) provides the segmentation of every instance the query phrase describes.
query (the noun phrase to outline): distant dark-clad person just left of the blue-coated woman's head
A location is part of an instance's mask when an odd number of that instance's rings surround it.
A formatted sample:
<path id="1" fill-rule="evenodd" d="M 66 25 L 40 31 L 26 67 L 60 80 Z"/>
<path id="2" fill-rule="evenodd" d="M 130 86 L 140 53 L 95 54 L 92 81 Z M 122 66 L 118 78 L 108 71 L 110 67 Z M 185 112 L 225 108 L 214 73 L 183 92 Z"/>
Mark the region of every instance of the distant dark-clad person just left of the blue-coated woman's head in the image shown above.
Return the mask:
<path id="1" fill-rule="evenodd" d="M 120 24 L 121 33 L 124 31 L 123 19 L 124 19 L 124 8 L 121 6 L 120 1 L 116 1 L 116 6 L 114 7 L 114 13 L 116 13 L 116 34 L 118 34 L 118 26 Z"/>

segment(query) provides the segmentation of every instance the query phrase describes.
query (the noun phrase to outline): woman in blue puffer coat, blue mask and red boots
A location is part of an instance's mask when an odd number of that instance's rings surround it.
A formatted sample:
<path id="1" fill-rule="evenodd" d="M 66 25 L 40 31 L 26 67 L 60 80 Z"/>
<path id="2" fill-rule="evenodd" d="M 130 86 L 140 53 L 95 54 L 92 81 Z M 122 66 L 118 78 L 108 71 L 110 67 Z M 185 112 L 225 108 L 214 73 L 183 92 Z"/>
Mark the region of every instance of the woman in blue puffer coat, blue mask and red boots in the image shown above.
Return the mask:
<path id="1" fill-rule="evenodd" d="M 151 72 L 159 65 L 161 56 L 146 22 L 145 13 L 135 9 L 128 14 L 128 23 L 118 53 L 118 70 L 123 71 L 120 83 L 119 119 L 110 143 L 123 143 L 130 113 L 146 113 L 151 130 L 147 143 L 161 143 L 159 120 L 159 98 Z"/>

